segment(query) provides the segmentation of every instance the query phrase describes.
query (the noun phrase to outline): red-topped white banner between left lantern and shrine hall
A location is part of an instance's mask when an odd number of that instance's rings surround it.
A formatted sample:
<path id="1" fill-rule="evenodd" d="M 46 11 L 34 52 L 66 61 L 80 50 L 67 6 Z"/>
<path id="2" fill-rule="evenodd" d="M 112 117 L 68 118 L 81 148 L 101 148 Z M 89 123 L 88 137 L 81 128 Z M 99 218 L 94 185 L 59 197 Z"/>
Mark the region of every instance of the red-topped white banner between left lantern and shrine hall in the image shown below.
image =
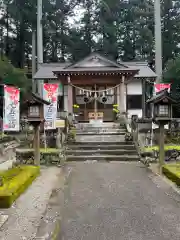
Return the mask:
<path id="1" fill-rule="evenodd" d="M 43 98 L 51 102 L 50 105 L 44 104 L 44 127 L 46 130 L 56 129 L 58 87 L 58 84 L 55 83 L 44 83 L 43 85 Z"/>

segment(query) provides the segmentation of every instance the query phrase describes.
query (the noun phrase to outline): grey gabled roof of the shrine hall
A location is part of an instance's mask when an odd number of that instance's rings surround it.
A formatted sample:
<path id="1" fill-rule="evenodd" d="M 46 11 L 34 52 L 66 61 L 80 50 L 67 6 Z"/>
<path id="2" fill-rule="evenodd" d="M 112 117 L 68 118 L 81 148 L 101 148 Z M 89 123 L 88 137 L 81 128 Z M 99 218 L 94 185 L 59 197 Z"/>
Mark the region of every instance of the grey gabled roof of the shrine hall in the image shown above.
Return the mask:
<path id="1" fill-rule="evenodd" d="M 66 63 L 44 63 L 40 65 L 39 70 L 34 75 L 34 79 L 57 79 L 56 75 L 68 74 L 132 74 L 136 78 L 151 77 L 155 78 L 156 74 L 149 68 L 146 63 L 122 62 L 116 63 L 97 53 L 92 53 L 88 57 L 78 61 L 75 64 Z"/>

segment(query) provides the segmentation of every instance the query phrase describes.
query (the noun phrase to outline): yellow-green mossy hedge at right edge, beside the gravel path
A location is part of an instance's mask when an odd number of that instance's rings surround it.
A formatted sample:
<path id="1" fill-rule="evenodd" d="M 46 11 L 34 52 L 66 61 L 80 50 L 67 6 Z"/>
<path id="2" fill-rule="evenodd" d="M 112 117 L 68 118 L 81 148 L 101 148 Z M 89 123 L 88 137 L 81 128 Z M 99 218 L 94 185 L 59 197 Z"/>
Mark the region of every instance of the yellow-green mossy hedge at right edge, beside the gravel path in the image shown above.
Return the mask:
<path id="1" fill-rule="evenodd" d="M 179 164 L 166 164 L 162 168 L 163 174 L 172 182 L 180 186 L 180 165 Z"/>

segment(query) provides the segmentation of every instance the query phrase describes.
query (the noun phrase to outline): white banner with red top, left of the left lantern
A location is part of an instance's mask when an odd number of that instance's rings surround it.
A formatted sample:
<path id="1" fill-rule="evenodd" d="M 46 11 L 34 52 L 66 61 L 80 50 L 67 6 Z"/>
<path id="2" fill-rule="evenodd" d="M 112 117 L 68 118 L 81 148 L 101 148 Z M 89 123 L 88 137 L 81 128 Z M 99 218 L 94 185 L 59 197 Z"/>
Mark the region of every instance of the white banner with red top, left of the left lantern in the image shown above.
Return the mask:
<path id="1" fill-rule="evenodd" d="M 13 86 L 4 85 L 3 131 L 19 131 L 20 90 Z"/>

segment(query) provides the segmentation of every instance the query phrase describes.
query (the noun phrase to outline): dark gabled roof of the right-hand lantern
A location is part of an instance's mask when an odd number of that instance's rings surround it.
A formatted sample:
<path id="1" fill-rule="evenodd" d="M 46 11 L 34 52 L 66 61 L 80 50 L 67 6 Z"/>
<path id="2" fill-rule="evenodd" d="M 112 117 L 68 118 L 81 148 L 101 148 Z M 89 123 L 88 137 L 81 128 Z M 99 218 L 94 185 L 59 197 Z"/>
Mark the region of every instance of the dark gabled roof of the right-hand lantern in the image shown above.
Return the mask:
<path id="1" fill-rule="evenodd" d="M 174 98 L 172 98 L 170 96 L 170 93 L 168 92 L 168 89 L 164 89 L 160 92 L 158 92 L 155 96 L 153 96 L 152 98 L 148 99 L 146 101 L 146 103 L 159 103 L 159 102 L 166 102 L 169 104 L 177 104 L 177 100 L 175 100 Z"/>

